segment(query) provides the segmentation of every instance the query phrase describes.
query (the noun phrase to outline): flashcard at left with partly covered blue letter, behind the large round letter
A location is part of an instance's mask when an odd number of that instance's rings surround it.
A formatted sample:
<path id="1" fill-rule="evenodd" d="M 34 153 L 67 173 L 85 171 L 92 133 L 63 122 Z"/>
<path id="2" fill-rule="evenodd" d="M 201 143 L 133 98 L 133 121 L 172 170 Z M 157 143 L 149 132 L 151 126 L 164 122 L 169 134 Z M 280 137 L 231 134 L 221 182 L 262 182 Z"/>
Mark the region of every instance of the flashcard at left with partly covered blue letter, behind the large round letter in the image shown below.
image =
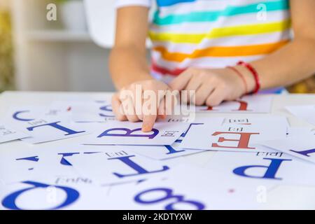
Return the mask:
<path id="1" fill-rule="evenodd" d="M 78 172 L 67 160 L 73 155 L 104 153 L 104 146 L 40 146 L 36 150 L 24 146 L 23 150 L 10 150 L 0 153 L 0 179 L 6 183 L 45 176 L 73 176 Z M 8 169 L 10 172 L 7 172 Z M 12 175 L 14 174 L 14 175 Z"/>

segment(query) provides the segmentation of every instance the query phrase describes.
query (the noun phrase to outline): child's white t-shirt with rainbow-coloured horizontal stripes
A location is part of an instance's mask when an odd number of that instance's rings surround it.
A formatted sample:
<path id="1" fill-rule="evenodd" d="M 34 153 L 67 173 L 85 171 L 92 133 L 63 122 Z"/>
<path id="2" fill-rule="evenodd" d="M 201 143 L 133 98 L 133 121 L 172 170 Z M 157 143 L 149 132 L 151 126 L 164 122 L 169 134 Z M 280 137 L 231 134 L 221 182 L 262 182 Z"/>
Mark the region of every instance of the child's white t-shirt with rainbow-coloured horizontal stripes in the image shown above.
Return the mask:
<path id="1" fill-rule="evenodd" d="M 117 6 L 155 6 L 151 70 L 166 81 L 190 66 L 251 62 L 290 41 L 288 0 L 118 0 Z"/>

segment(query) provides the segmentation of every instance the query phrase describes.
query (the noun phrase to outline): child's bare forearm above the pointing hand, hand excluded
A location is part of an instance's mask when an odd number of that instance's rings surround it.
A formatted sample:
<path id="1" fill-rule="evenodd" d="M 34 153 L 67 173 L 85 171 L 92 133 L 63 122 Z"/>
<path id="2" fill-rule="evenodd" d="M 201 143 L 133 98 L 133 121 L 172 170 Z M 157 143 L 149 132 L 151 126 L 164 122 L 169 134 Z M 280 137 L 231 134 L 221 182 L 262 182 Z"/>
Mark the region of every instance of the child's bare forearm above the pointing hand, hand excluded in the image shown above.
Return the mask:
<path id="1" fill-rule="evenodd" d="M 148 8 L 118 8 L 117 13 L 116 40 L 109 63 L 113 82 L 120 90 L 152 77 L 146 62 Z"/>

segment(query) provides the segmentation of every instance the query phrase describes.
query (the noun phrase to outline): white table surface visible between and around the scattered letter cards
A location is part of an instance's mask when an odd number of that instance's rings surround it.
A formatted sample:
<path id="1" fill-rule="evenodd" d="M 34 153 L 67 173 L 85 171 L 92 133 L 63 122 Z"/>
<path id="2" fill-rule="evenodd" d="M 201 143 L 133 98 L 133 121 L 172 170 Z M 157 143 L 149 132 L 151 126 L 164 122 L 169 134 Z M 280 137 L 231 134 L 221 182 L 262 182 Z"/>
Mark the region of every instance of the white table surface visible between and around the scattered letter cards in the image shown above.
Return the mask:
<path id="1" fill-rule="evenodd" d="M 4 92 L 0 96 L 0 118 L 6 113 L 10 106 L 22 105 L 43 105 L 50 104 L 56 100 L 73 100 L 73 99 L 89 99 L 91 97 L 102 97 L 111 93 L 83 93 L 83 92 Z M 292 127 L 312 127 L 308 123 L 290 115 L 284 106 L 289 105 L 315 104 L 315 94 L 287 94 L 276 95 L 272 105 L 272 114 L 286 116 Z M 200 116 L 225 116 L 227 114 L 220 113 L 202 113 Z M 229 114 L 231 115 L 231 114 Z M 256 115 L 263 116 L 263 115 Z M 315 115 L 314 115 L 315 116 Z M 45 144 L 45 146 L 62 146 L 78 141 L 78 138 L 64 139 L 53 141 Z M 41 148 L 41 145 L 28 145 L 22 141 L 13 141 L 8 144 L 0 144 L 0 153 L 10 153 L 12 151 L 26 151 Z M 202 166 L 204 162 L 214 155 L 213 152 L 199 153 L 184 157 L 188 163 Z M 1 162 L 1 158 L 0 158 Z M 315 172 L 315 167 L 314 167 Z M 1 187 L 1 185 L 0 185 Z M 279 186 L 269 193 L 267 203 L 264 204 L 266 209 L 315 209 L 315 187 L 309 186 Z"/>

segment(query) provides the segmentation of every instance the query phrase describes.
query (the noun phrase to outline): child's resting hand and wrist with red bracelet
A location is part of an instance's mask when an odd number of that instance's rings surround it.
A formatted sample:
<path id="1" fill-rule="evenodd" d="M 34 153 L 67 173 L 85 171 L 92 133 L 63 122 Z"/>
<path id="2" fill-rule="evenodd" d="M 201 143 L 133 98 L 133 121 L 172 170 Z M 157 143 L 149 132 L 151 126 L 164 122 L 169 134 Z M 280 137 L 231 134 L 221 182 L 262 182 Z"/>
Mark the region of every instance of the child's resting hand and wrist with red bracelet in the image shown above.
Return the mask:
<path id="1" fill-rule="evenodd" d="M 248 71 L 239 71 L 244 74 L 248 91 L 253 90 L 255 83 Z M 197 106 L 218 106 L 224 100 L 234 100 L 246 94 L 243 80 L 231 69 L 195 69 L 190 68 L 172 80 L 169 86 L 173 90 L 195 90 Z M 189 99 L 189 98 L 188 98 Z"/>

